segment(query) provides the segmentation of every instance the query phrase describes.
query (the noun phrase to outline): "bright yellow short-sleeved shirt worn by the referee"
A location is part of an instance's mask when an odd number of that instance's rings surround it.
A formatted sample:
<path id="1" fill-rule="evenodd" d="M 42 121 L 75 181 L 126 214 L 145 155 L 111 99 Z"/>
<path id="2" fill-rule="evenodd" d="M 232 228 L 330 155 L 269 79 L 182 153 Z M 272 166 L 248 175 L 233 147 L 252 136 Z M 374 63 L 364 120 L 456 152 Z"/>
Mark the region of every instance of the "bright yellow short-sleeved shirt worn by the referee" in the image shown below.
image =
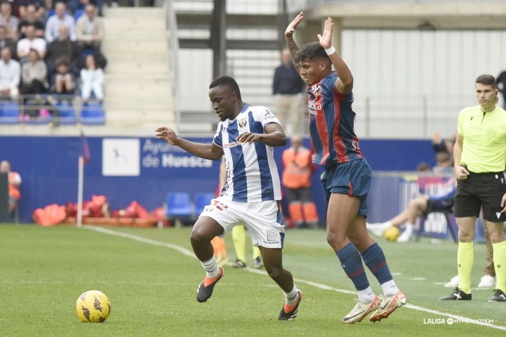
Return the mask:
<path id="1" fill-rule="evenodd" d="M 457 132 L 463 136 L 460 163 L 475 173 L 502 172 L 506 166 L 506 111 L 496 106 L 490 112 L 481 107 L 462 109 Z"/>

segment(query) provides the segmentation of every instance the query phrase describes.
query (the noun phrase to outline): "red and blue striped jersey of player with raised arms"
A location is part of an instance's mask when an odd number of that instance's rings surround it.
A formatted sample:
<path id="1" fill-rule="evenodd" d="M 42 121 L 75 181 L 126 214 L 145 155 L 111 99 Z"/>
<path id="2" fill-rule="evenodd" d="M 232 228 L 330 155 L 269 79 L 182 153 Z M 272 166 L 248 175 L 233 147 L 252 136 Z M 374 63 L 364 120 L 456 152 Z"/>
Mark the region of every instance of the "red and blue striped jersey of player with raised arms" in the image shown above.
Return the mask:
<path id="1" fill-rule="evenodd" d="M 315 164 L 335 165 L 364 158 L 354 131 L 353 93 L 339 92 L 335 88 L 337 78 L 338 75 L 331 72 L 306 89 Z"/>

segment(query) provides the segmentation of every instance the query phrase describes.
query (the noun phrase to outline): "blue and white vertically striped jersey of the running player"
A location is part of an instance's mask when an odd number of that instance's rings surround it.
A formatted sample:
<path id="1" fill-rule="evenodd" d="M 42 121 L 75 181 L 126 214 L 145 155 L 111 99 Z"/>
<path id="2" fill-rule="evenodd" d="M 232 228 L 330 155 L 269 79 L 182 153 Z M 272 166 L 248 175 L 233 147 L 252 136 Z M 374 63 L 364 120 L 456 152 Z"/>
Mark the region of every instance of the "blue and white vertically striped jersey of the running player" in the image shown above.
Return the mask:
<path id="1" fill-rule="evenodd" d="M 281 200 L 281 184 L 274 161 L 274 150 L 262 142 L 251 144 L 237 141 L 244 132 L 264 133 L 264 126 L 279 123 L 266 107 L 247 104 L 234 120 L 220 121 L 213 142 L 223 148 L 227 180 L 223 197 L 235 202 Z"/>

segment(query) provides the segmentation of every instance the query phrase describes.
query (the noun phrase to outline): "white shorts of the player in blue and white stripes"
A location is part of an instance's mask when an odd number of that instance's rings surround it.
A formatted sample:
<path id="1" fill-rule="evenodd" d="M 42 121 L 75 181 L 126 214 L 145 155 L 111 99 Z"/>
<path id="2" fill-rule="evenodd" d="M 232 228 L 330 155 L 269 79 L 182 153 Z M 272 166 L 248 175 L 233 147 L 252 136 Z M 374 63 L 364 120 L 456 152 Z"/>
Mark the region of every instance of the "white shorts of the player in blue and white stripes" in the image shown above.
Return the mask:
<path id="1" fill-rule="evenodd" d="M 275 200 L 238 203 L 218 197 L 204 207 L 199 217 L 202 216 L 215 219 L 225 230 L 223 234 L 243 222 L 249 230 L 253 246 L 283 248 L 284 225 Z"/>

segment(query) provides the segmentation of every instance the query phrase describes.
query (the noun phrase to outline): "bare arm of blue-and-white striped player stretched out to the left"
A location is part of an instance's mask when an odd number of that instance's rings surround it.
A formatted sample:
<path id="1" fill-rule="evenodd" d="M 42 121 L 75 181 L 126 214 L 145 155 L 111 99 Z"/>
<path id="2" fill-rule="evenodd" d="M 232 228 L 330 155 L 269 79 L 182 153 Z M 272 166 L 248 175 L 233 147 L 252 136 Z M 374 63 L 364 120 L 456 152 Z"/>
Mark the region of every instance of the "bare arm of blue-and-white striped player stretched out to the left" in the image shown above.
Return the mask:
<path id="1" fill-rule="evenodd" d="M 170 145 L 178 146 L 181 149 L 204 159 L 219 160 L 223 156 L 223 149 L 215 143 L 202 144 L 178 137 L 173 129 L 162 126 L 156 130 L 156 138 L 166 140 Z"/>

